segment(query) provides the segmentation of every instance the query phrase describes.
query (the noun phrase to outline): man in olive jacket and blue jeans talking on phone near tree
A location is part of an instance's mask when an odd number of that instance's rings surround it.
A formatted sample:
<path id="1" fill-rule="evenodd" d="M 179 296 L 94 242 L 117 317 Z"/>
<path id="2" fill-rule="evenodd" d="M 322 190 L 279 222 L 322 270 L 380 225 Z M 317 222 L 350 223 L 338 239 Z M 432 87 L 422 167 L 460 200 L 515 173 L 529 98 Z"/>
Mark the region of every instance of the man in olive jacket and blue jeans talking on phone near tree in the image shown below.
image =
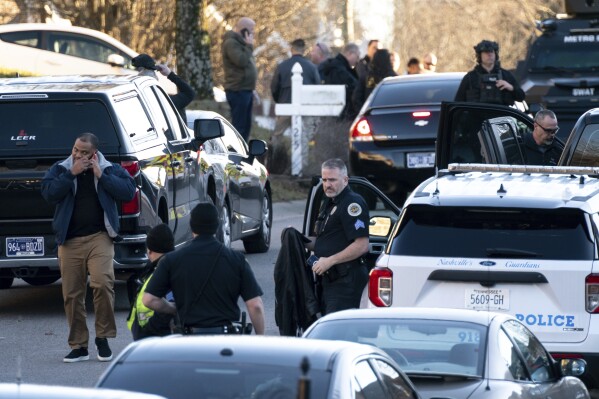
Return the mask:
<path id="1" fill-rule="evenodd" d="M 221 49 L 231 122 L 245 141 L 252 129 L 253 95 L 258 76 L 253 54 L 255 27 L 252 19 L 240 18 L 235 28 L 224 34 Z"/>

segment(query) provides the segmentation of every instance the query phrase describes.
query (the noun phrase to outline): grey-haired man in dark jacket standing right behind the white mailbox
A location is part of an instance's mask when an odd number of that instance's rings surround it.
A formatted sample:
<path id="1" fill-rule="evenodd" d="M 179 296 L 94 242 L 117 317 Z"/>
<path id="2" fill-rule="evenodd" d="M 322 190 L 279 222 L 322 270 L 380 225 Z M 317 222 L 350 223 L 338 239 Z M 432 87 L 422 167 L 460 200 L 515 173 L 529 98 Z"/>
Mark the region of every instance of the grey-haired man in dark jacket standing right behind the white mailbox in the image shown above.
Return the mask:
<path id="1" fill-rule="evenodd" d="M 345 85 L 345 107 L 341 111 L 341 120 L 353 120 L 357 110 L 353 106 L 352 95 L 358 85 L 358 74 L 354 67 L 360 59 L 360 48 L 348 43 L 340 54 L 322 63 L 324 83 L 328 85 Z"/>

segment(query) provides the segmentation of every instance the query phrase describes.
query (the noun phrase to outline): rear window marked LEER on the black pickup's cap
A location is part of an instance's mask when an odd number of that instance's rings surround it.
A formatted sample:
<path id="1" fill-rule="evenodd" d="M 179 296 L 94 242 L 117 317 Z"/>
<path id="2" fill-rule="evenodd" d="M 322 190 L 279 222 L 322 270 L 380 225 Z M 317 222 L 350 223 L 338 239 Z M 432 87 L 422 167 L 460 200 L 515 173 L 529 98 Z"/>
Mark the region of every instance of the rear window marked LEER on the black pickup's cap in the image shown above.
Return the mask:
<path id="1" fill-rule="evenodd" d="M 75 138 L 85 132 L 98 136 L 102 152 L 119 144 L 110 114 L 99 101 L 2 102 L 0 121 L 3 156 L 68 155 Z"/>

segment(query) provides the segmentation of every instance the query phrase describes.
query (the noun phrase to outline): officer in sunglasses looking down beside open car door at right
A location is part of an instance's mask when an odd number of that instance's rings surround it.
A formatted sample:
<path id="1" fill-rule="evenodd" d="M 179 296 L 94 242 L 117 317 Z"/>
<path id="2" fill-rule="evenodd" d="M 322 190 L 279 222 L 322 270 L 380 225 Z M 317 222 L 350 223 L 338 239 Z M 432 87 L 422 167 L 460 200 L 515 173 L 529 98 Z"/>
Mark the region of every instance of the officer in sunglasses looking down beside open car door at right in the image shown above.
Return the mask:
<path id="1" fill-rule="evenodd" d="M 553 111 L 542 109 L 536 113 L 534 129 L 523 136 L 527 165 L 556 166 L 564 146 L 555 140 L 559 131 L 557 116 Z"/>

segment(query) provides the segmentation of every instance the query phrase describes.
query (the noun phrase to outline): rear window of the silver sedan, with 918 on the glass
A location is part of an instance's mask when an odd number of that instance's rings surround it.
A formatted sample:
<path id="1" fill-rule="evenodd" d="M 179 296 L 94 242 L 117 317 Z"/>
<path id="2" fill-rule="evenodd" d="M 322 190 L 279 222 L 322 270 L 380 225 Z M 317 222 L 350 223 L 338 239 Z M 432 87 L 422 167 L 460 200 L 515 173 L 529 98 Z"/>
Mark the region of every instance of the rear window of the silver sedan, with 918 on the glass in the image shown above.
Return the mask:
<path id="1" fill-rule="evenodd" d="M 317 324 L 308 338 L 366 343 L 386 351 L 409 375 L 482 376 L 487 327 L 453 320 L 351 319 Z"/>

